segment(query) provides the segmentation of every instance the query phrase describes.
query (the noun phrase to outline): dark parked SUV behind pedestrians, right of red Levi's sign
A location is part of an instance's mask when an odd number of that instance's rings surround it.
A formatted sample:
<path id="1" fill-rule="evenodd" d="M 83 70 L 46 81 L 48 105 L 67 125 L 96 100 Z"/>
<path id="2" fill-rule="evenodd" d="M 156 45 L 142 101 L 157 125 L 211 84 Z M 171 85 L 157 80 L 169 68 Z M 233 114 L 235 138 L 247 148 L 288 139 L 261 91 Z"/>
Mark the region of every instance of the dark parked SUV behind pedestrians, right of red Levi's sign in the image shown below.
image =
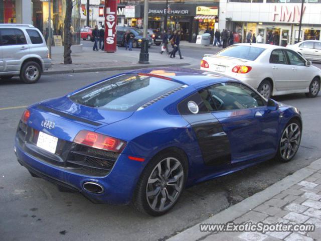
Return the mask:
<path id="1" fill-rule="evenodd" d="M 133 48 L 140 48 L 141 46 L 141 40 L 142 40 L 142 31 L 137 28 L 132 27 L 120 27 L 116 26 L 117 31 L 117 45 L 123 46 L 124 45 L 124 35 L 126 31 L 129 30 L 131 33 L 135 35 L 133 41 L 132 41 L 132 47 Z M 147 36 L 148 39 L 148 47 L 150 47 L 153 44 L 153 39 L 149 36 Z"/>

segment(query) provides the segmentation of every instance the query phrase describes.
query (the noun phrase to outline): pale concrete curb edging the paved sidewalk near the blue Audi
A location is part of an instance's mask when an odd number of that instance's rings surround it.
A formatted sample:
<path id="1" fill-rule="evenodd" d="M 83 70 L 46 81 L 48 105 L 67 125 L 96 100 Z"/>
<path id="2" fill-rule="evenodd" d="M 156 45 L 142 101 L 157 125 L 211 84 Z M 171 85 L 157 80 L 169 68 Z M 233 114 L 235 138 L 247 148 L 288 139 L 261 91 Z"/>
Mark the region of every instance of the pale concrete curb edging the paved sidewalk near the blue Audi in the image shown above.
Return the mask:
<path id="1" fill-rule="evenodd" d="M 242 216 L 253 208 L 257 207 L 261 203 L 271 199 L 273 196 L 277 195 L 281 191 L 291 187 L 292 185 L 300 182 L 306 177 L 312 175 L 316 170 L 319 170 L 321 166 L 321 158 L 312 162 L 310 165 L 303 167 L 292 175 L 289 175 L 282 180 L 274 183 L 268 188 L 264 189 L 261 192 L 258 192 L 243 201 L 230 206 L 229 208 L 215 214 L 214 216 L 182 231 L 175 236 L 170 237 L 167 241 L 181 241 L 181 240 L 199 240 L 202 237 L 205 237 L 209 232 L 201 232 L 200 224 L 201 223 L 226 223 L 233 221 L 237 217 Z"/>

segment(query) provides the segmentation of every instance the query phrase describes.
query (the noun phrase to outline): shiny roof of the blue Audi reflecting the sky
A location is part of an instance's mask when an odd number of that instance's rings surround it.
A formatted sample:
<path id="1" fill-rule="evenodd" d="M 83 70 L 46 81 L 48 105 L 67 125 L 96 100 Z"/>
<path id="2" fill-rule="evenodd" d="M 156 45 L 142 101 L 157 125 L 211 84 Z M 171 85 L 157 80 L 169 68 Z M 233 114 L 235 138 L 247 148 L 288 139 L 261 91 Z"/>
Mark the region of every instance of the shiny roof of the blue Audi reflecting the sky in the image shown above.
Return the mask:
<path id="1" fill-rule="evenodd" d="M 155 76 L 171 78 L 172 80 L 180 82 L 182 84 L 192 85 L 196 89 L 198 89 L 201 86 L 219 83 L 224 80 L 235 80 L 230 77 L 206 72 L 204 70 L 180 67 L 145 68 L 134 70 L 130 73 L 154 74 Z"/>

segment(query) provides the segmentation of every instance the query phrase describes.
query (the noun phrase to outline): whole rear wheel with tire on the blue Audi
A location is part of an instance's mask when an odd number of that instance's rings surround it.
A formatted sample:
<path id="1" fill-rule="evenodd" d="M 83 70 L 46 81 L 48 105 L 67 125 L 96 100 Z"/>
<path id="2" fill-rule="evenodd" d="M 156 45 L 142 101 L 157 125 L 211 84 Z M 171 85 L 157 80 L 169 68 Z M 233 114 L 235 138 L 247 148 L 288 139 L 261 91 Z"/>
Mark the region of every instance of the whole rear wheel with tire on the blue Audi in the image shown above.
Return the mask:
<path id="1" fill-rule="evenodd" d="M 141 174 L 132 204 L 140 212 L 160 216 L 174 207 L 187 177 L 187 164 L 175 152 L 154 157 Z"/>

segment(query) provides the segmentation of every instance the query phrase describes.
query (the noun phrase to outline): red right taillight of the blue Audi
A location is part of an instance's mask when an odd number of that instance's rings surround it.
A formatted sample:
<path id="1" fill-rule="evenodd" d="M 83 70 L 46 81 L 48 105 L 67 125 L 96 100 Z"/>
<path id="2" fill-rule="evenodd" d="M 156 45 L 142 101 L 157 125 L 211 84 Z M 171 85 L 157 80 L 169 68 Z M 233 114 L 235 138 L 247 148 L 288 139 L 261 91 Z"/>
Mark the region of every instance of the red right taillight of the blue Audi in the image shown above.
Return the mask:
<path id="1" fill-rule="evenodd" d="M 89 147 L 120 153 L 126 142 L 90 131 L 80 131 L 74 139 L 75 143 Z"/>

